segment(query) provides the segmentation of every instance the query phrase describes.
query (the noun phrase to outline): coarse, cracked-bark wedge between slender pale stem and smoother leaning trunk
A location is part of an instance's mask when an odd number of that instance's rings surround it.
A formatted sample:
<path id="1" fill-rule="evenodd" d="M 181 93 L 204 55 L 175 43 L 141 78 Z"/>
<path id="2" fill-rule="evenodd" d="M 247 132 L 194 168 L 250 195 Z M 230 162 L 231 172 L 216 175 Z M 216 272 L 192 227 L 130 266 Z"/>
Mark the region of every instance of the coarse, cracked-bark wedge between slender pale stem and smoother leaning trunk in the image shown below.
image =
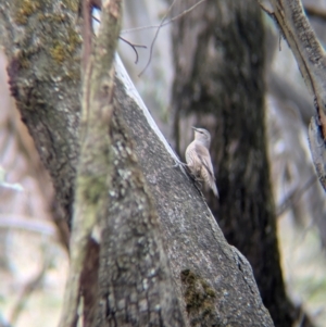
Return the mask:
<path id="1" fill-rule="evenodd" d="M 158 214 L 126 125 L 115 110 L 108 217 L 102 218 L 99 307 L 93 326 L 185 326 Z"/>

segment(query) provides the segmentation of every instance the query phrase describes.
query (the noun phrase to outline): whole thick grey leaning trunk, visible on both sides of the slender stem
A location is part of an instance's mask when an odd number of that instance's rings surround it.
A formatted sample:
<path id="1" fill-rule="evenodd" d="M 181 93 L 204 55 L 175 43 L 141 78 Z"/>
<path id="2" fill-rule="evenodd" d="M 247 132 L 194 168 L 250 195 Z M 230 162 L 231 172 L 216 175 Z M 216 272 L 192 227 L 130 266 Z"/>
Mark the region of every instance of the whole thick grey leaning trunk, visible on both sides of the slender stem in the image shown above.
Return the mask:
<path id="1" fill-rule="evenodd" d="M 0 17 L 12 93 L 72 223 L 82 92 L 78 1 L 0 1 Z M 177 306 L 170 322 L 161 319 L 179 302 L 186 326 L 273 326 L 248 261 L 226 242 L 183 169 L 173 167 L 173 151 L 118 60 L 113 103 L 106 151 L 115 173 L 103 189 L 108 219 L 99 221 L 99 290 L 89 324 L 183 325 Z"/>

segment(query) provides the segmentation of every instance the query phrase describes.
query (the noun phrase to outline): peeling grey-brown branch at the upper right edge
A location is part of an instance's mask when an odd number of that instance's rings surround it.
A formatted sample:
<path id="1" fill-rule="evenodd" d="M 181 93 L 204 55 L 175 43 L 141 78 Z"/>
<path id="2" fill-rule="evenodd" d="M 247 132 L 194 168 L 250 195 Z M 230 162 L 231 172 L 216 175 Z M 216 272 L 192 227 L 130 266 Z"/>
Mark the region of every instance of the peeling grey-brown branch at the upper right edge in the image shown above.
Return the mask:
<path id="1" fill-rule="evenodd" d="M 324 143 L 326 139 L 326 52 L 312 29 L 300 0 L 271 0 L 271 3 L 273 10 L 265 10 L 286 38 L 305 85 L 314 97 L 316 117 L 312 118 L 310 126 L 310 147 L 317 175 L 326 190 L 325 144 L 316 147 L 318 139 L 323 139 Z"/>

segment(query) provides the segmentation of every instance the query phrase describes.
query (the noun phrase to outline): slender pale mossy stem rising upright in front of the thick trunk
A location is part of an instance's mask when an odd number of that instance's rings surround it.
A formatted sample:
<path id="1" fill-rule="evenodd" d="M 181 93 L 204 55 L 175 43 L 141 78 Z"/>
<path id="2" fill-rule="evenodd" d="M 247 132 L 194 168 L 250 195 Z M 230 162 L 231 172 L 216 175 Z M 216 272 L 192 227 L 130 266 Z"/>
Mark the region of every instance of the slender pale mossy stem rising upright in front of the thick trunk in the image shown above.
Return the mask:
<path id="1" fill-rule="evenodd" d="M 92 54 L 84 74 L 80 154 L 76 176 L 74 223 L 71 236 L 71 268 L 64 295 L 61 327 L 77 319 L 79 282 L 90 234 L 102 213 L 110 184 L 110 138 L 113 112 L 113 59 L 121 28 L 122 1 L 103 1 L 102 20 Z M 90 27 L 89 27 L 90 28 Z M 88 35 L 91 32 L 86 32 Z M 93 163 L 90 165 L 90 163 Z"/>

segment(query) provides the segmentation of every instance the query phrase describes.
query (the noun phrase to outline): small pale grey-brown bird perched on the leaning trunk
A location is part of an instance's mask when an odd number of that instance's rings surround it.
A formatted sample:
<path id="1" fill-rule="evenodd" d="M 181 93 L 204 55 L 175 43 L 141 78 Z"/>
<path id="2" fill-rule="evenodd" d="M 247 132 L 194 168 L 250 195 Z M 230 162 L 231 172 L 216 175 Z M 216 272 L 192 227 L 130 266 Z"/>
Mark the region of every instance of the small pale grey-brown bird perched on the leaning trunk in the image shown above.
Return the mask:
<path id="1" fill-rule="evenodd" d="M 186 163 L 191 174 L 199 180 L 203 180 L 209 186 L 215 197 L 218 198 L 218 191 L 215 184 L 214 169 L 212 165 L 210 144 L 210 131 L 204 128 L 193 127 L 195 139 L 186 149 Z"/>

